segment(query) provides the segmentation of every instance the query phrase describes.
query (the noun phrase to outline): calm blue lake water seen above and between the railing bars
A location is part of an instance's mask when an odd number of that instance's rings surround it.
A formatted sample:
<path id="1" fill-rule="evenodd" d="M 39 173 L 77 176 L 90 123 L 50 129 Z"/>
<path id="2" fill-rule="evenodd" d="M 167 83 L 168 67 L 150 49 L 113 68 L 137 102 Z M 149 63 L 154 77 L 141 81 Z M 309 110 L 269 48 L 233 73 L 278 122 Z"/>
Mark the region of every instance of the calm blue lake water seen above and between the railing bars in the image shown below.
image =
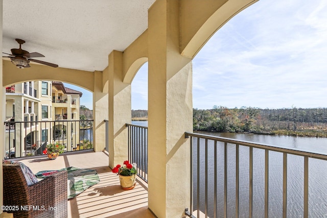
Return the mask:
<path id="1" fill-rule="evenodd" d="M 132 124 L 147 126 L 147 122 L 132 122 Z M 294 148 L 313 153 L 327 154 L 327 138 L 309 138 L 294 136 L 271 136 L 242 133 L 209 133 L 197 132 L 245 141 L 271 144 L 278 147 Z M 196 140 L 196 139 L 195 139 Z M 196 144 L 196 141 L 194 141 Z M 200 140 L 200 168 L 204 169 L 204 140 Z M 209 144 L 209 175 L 213 175 L 213 144 Z M 235 145 L 229 144 L 227 149 L 228 180 L 227 180 L 227 216 L 235 217 Z M 194 162 L 196 163 L 196 148 Z M 223 217 L 224 206 L 224 146 L 218 144 L 218 179 L 217 179 L 217 214 Z M 253 217 L 264 217 L 264 178 L 265 152 L 253 149 Z M 288 193 L 287 216 L 303 217 L 303 158 L 288 155 Z M 194 175 L 197 175 L 196 169 Z M 240 147 L 240 196 L 239 217 L 248 217 L 249 208 L 249 149 Z M 204 178 L 204 170 L 200 172 Z M 213 183 L 214 178 L 208 178 L 208 216 L 213 217 Z M 196 180 L 194 188 L 196 190 Z M 204 179 L 200 179 L 200 210 L 204 212 Z M 194 194 L 196 200 L 197 193 Z M 269 152 L 269 217 L 283 216 L 283 154 Z M 196 203 L 196 202 L 195 202 Z M 196 208 L 194 208 L 196 209 Z M 309 159 L 309 217 L 327 217 L 327 161 Z"/>

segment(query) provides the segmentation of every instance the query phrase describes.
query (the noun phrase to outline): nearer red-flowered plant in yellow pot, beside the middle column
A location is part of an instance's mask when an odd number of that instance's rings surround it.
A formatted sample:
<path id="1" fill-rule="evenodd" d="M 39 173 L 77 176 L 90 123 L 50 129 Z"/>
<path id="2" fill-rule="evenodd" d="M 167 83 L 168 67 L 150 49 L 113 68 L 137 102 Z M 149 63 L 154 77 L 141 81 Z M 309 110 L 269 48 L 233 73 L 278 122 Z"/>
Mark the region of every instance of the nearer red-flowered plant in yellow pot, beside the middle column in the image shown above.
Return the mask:
<path id="1" fill-rule="evenodd" d="M 119 175 L 119 181 L 123 189 L 132 189 L 135 187 L 136 163 L 129 163 L 128 160 L 124 161 L 124 165 L 117 164 L 112 169 L 112 173 Z"/>

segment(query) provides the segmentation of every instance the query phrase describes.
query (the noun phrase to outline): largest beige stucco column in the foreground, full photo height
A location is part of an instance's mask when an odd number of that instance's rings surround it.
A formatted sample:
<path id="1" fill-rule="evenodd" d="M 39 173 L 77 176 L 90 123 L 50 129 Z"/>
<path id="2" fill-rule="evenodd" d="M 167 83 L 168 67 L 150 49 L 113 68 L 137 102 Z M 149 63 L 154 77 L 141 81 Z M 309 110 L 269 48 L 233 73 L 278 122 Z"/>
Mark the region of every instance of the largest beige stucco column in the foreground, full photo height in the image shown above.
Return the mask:
<path id="1" fill-rule="evenodd" d="M 190 204 L 192 62 L 179 52 L 179 1 L 149 9 L 148 191 L 158 217 L 182 217 Z"/>

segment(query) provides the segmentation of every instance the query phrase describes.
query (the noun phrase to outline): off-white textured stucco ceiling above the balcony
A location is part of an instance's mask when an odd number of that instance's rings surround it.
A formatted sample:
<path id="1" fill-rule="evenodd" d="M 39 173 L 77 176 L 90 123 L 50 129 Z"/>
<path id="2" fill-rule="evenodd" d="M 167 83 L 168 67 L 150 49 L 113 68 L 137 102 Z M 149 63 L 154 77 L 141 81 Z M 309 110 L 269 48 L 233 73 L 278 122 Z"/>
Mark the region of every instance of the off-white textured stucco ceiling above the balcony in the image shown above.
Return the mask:
<path id="1" fill-rule="evenodd" d="M 148 27 L 155 0 L 4 0 L 3 52 L 38 52 L 59 67 L 103 70 L 112 50 L 123 51 Z M 24 69 L 23 69 L 24 70 Z"/>

